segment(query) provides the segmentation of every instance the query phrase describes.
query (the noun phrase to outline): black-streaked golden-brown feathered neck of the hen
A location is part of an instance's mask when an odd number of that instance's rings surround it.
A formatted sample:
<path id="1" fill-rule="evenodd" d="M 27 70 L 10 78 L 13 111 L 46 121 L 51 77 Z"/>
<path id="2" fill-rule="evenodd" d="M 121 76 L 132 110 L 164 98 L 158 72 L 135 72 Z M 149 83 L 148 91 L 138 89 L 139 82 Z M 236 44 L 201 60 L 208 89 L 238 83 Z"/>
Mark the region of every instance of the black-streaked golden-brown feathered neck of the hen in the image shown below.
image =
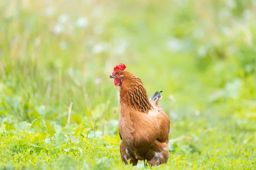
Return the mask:
<path id="1" fill-rule="evenodd" d="M 122 82 L 120 87 L 120 105 L 128 105 L 142 113 L 148 113 L 148 111 L 153 109 L 141 79 L 134 74 L 126 76 Z"/>

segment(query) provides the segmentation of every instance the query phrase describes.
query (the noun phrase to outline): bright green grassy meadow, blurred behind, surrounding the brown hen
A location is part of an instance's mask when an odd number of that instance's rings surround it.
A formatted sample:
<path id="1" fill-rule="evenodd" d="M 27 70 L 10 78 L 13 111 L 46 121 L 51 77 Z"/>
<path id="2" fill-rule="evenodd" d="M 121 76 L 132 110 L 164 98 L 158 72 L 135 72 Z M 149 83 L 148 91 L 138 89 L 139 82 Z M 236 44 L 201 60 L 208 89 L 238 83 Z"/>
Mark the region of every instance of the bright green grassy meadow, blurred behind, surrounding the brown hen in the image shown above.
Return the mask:
<path id="1" fill-rule="evenodd" d="M 253 0 L 63 2 L 0 2 L 0 168 L 131 169 L 108 78 L 122 62 L 163 90 L 170 139 L 192 138 L 134 169 L 256 169 Z"/>

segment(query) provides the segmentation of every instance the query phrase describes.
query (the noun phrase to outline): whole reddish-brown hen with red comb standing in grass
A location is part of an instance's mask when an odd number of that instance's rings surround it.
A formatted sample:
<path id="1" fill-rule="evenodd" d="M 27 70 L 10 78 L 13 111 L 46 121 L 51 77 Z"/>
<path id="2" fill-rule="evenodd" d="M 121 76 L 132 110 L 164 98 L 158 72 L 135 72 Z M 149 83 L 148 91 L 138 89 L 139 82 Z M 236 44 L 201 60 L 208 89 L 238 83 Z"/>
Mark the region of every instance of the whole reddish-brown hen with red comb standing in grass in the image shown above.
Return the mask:
<path id="1" fill-rule="evenodd" d="M 141 79 L 116 65 L 110 78 L 120 87 L 119 136 L 122 161 L 137 165 L 147 160 L 151 166 L 169 159 L 170 120 L 157 103 L 162 96 L 156 92 L 149 102 Z"/>

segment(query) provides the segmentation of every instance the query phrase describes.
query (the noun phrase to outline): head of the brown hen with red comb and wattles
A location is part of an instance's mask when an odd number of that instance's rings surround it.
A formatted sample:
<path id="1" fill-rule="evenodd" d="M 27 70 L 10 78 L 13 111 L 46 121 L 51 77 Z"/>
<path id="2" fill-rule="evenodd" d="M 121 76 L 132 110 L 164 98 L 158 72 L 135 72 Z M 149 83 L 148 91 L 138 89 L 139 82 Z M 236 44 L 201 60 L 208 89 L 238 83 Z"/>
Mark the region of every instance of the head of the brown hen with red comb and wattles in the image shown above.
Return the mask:
<path id="1" fill-rule="evenodd" d="M 112 75 L 109 76 L 109 78 L 114 79 L 114 84 L 116 85 L 116 87 L 122 84 L 122 81 L 125 79 L 125 74 L 128 73 L 127 71 L 125 71 L 125 68 L 125 64 L 121 63 L 119 65 L 116 65 L 112 72 Z"/>

